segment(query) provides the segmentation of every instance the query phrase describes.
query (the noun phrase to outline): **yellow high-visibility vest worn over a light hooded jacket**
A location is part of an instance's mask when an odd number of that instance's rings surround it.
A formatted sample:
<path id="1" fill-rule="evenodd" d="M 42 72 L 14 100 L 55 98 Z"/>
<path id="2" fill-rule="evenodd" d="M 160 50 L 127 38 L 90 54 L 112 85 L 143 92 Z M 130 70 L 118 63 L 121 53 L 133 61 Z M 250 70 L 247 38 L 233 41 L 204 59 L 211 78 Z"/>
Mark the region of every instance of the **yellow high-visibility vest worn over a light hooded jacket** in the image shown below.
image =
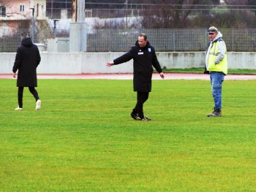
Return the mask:
<path id="1" fill-rule="evenodd" d="M 219 64 L 214 64 L 215 58 L 217 58 L 219 47 L 219 40 L 217 42 L 213 42 L 211 46 L 211 50 L 208 57 L 208 66 L 207 71 L 209 72 L 223 72 L 227 74 L 227 50 L 225 50 L 225 55 L 222 61 Z"/>

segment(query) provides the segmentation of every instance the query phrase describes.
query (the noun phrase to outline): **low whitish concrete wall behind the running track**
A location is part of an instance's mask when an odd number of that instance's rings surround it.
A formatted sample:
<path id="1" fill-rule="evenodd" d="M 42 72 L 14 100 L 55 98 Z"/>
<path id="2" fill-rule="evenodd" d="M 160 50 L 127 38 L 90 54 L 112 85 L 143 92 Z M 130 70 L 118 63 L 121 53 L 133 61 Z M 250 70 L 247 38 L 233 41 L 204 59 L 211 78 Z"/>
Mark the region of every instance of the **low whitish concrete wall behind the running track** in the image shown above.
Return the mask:
<path id="1" fill-rule="evenodd" d="M 132 61 L 108 68 L 105 64 L 124 53 L 41 53 L 39 74 L 131 73 Z M 229 69 L 256 69 L 256 53 L 229 52 Z M 157 52 L 160 65 L 167 69 L 203 67 L 204 52 Z M 11 74 L 15 53 L 0 53 L 0 74 Z"/>

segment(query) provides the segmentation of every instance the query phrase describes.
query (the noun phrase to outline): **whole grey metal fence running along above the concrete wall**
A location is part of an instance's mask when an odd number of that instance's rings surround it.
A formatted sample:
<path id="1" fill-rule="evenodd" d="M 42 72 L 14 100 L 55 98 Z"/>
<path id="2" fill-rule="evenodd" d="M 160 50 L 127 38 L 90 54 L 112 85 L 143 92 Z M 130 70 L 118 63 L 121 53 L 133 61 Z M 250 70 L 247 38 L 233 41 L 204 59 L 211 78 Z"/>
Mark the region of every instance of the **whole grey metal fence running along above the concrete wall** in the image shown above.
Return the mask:
<path id="1" fill-rule="evenodd" d="M 0 36 L 0 52 L 15 52 L 23 31 L 29 32 L 27 29 L 20 29 L 13 31 L 12 35 Z M 256 28 L 223 28 L 219 31 L 223 34 L 227 51 L 256 51 Z M 127 51 L 135 45 L 140 33 L 148 35 L 148 41 L 157 51 L 204 51 L 208 42 L 206 28 L 94 29 L 87 34 L 87 51 Z M 47 47 L 48 39 L 61 37 L 68 38 L 69 31 L 38 31 L 34 39 L 35 43 Z"/>

